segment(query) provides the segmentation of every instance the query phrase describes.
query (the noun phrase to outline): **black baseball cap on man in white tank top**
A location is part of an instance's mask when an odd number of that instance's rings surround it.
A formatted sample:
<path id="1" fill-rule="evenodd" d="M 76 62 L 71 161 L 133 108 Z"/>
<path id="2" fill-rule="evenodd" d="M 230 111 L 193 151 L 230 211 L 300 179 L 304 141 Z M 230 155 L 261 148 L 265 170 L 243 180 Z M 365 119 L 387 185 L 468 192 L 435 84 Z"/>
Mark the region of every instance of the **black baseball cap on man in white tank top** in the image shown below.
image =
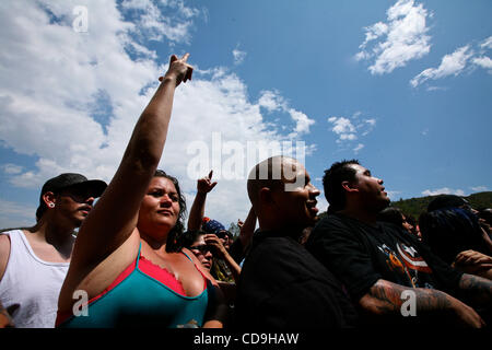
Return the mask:
<path id="1" fill-rule="evenodd" d="M 46 192 L 59 194 L 61 190 L 69 187 L 83 187 L 87 188 L 92 197 L 97 198 L 103 195 L 107 187 L 107 184 L 101 179 L 87 179 L 84 175 L 75 173 L 63 173 L 56 177 L 48 179 L 45 185 L 43 185 L 39 195 L 39 207 L 36 210 L 36 217 L 39 219 L 46 209 L 45 202 L 43 201 L 43 195 Z"/>

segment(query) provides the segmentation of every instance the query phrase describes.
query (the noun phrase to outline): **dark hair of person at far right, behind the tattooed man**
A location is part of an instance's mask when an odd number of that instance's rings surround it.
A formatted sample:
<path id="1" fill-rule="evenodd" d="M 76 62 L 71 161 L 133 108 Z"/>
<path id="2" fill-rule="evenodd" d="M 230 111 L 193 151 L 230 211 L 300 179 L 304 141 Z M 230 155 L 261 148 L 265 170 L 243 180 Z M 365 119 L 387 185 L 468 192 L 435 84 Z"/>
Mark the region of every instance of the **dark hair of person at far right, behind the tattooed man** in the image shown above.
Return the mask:
<path id="1" fill-rule="evenodd" d="M 469 210 L 448 208 L 424 212 L 419 218 L 419 226 L 422 241 L 447 264 L 468 249 L 490 255 L 478 217 Z"/>

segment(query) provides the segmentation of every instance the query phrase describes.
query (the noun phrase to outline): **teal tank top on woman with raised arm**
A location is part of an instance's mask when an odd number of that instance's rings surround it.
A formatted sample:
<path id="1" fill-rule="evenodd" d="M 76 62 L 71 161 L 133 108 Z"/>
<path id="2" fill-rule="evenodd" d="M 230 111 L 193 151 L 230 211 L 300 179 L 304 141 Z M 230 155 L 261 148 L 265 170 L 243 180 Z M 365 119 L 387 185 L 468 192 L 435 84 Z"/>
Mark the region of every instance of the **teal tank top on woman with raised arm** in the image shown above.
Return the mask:
<path id="1" fill-rule="evenodd" d="M 139 269 L 141 246 L 140 243 L 137 262 L 127 268 L 134 265 L 134 269 L 107 292 L 92 299 L 87 316 L 71 315 L 66 320 L 57 319 L 57 327 L 201 327 L 209 300 L 210 281 L 206 279 L 207 285 L 197 296 L 186 296 L 174 291 Z"/>

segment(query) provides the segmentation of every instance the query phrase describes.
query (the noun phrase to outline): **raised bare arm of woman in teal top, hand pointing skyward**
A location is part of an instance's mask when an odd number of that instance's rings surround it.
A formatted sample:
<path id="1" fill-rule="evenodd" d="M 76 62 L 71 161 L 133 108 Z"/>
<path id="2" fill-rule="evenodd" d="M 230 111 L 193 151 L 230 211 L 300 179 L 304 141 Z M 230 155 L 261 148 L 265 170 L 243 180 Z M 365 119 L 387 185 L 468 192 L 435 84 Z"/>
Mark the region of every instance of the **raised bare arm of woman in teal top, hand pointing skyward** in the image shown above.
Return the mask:
<path id="1" fill-rule="evenodd" d="M 179 83 L 191 79 L 188 54 L 171 57 L 169 68 L 136 124 L 119 167 L 84 220 L 74 245 L 70 270 L 63 290 L 71 293 L 78 283 L 132 234 L 140 202 L 161 160 Z M 66 298 L 70 298 L 65 295 Z"/>

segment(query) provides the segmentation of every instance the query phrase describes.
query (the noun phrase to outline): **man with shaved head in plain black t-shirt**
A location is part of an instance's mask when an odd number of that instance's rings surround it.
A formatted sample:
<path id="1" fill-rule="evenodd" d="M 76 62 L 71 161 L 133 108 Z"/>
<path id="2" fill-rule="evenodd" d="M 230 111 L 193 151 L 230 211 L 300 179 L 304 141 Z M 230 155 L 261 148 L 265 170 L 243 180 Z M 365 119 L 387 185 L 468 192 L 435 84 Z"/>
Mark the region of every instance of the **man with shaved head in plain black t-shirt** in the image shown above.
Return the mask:
<path id="1" fill-rule="evenodd" d="M 259 231 L 241 272 L 235 327 L 353 327 L 356 314 L 340 283 L 298 242 L 318 212 L 319 190 L 305 167 L 291 158 L 270 158 L 253 168 L 247 189 Z"/>

